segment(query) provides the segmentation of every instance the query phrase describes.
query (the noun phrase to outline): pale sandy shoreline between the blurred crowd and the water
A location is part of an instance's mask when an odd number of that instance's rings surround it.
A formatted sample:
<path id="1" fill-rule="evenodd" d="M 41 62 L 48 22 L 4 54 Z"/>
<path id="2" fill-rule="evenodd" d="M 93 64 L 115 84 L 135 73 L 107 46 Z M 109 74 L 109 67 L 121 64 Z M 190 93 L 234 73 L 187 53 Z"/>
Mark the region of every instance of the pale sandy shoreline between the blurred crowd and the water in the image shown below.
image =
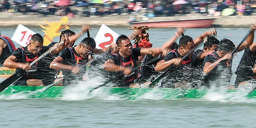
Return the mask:
<path id="1" fill-rule="evenodd" d="M 48 17 L 38 17 L 40 15 L 20 15 L 19 13 L 0 12 L 0 28 L 16 28 L 22 24 L 29 28 L 41 28 L 39 24 L 46 25 L 47 22 L 60 22 L 60 18 L 56 15 Z M 69 25 L 72 28 L 80 28 L 83 24 L 89 24 L 93 28 L 99 28 L 105 24 L 111 28 L 127 28 L 130 27 L 127 19 L 130 15 L 107 15 L 106 17 L 79 17 L 69 18 Z M 141 20 L 140 15 L 136 15 L 137 20 Z M 184 16 L 168 16 L 153 17 L 144 21 L 163 21 L 163 20 L 185 20 L 185 19 L 204 19 L 216 18 L 213 26 L 216 28 L 246 28 L 255 21 L 256 16 L 202 16 L 200 14 L 186 14 Z M 43 20 L 44 19 L 44 20 Z"/>

